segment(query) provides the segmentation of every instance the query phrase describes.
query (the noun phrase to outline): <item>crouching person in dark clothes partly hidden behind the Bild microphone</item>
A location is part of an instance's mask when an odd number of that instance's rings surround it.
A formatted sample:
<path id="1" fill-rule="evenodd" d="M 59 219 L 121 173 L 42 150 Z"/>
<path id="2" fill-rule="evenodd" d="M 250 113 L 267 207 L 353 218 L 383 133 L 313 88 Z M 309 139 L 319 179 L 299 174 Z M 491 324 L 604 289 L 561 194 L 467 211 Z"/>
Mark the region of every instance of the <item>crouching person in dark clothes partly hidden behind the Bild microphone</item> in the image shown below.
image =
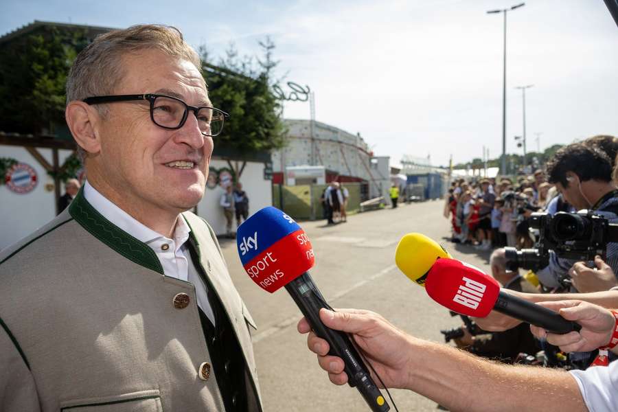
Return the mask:
<path id="1" fill-rule="evenodd" d="M 490 266 L 492 277 L 503 288 L 524 293 L 538 293 L 538 290 L 519 273 L 507 271 L 504 249 L 496 249 L 492 252 Z M 479 334 L 477 336 L 472 336 L 465 325 L 463 329 L 464 336 L 457 341 L 457 345 L 464 347 L 468 352 L 485 358 L 495 358 L 505 363 L 513 363 L 520 352 L 536 354 L 540 350 L 526 323 L 520 323 L 515 328 L 504 332 Z"/>

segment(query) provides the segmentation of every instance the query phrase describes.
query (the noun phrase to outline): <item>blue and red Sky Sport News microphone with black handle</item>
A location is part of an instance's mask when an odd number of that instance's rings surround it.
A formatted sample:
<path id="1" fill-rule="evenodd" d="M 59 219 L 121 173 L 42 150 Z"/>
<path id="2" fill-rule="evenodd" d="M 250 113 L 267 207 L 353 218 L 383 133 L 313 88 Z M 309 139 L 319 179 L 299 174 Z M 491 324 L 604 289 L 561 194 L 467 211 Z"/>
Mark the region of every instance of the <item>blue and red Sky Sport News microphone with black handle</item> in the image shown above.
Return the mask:
<path id="1" fill-rule="evenodd" d="M 253 282 L 270 293 L 285 286 L 315 334 L 328 341 L 329 354 L 343 359 L 350 386 L 358 389 L 371 411 L 389 411 L 347 334 L 326 328 L 319 318 L 321 308 L 332 308 L 308 273 L 315 257 L 297 222 L 275 207 L 264 207 L 238 227 L 236 243 L 242 266 Z"/>

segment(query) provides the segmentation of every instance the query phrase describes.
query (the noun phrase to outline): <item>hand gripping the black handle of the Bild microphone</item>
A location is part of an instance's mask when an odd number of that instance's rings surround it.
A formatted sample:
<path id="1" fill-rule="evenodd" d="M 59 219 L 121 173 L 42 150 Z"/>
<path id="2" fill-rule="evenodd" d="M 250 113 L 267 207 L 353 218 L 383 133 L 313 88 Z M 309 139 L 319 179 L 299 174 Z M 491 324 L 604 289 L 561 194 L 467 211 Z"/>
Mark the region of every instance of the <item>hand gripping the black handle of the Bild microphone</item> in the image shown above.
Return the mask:
<path id="1" fill-rule="evenodd" d="M 607 345 L 612 337 L 616 320 L 614 315 L 601 306 L 584 301 L 539 302 L 560 313 L 564 319 L 582 325 L 580 332 L 551 334 L 543 328 L 531 325 L 530 330 L 538 339 L 546 338 L 549 343 L 560 347 L 564 352 L 587 352 Z"/>

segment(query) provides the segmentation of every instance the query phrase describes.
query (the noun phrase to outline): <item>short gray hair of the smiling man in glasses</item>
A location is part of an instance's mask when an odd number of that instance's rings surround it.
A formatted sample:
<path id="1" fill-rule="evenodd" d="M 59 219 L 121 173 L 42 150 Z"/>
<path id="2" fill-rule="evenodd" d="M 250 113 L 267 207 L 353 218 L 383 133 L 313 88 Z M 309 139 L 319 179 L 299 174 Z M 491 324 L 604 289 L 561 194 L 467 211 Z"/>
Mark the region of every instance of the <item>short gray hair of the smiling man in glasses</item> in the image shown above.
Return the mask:
<path id="1" fill-rule="evenodd" d="M 134 25 L 97 36 L 73 62 L 67 77 L 67 104 L 91 96 L 111 95 L 125 71 L 122 58 L 143 50 L 158 50 L 168 56 L 192 62 L 201 72 L 202 64 L 196 51 L 183 39 L 176 27 L 168 25 Z M 107 114 L 105 105 L 97 105 L 100 115 Z M 78 156 L 84 163 L 85 151 L 78 146 Z"/>

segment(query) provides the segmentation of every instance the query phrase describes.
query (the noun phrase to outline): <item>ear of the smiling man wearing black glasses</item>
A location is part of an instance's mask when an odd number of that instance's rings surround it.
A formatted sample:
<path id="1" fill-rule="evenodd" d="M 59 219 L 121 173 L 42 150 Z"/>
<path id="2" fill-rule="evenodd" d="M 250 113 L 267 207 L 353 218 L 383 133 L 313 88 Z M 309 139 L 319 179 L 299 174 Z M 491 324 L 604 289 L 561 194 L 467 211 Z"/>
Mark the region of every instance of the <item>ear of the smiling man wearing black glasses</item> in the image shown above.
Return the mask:
<path id="1" fill-rule="evenodd" d="M 101 142 L 95 130 L 99 117 L 91 106 L 73 100 L 67 105 L 65 119 L 71 135 L 82 149 L 91 154 L 100 152 Z"/>

